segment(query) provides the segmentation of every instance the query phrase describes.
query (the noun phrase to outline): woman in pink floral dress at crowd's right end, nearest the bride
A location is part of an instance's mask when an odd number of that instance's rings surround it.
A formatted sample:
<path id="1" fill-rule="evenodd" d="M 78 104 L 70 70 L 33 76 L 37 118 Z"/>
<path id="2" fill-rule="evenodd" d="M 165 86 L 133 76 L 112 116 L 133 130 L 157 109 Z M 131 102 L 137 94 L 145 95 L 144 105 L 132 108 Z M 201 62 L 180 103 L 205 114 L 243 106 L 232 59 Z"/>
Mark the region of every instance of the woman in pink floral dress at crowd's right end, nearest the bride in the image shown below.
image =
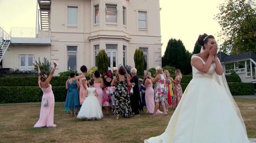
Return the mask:
<path id="1" fill-rule="evenodd" d="M 174 83 L 173 109 L 176 109 L 176 107 L 178 106 L 178 104 L 180 102 L 180 99 L 183 95 L 183 91 L 182 91 L 182 88 L 180 86 L 181 79 L 182 79 L 182 74 L 181 74 L 179 69 L 176 69 L 175 70 L 175 80 L 172 80 L 173 83 Z"/>

